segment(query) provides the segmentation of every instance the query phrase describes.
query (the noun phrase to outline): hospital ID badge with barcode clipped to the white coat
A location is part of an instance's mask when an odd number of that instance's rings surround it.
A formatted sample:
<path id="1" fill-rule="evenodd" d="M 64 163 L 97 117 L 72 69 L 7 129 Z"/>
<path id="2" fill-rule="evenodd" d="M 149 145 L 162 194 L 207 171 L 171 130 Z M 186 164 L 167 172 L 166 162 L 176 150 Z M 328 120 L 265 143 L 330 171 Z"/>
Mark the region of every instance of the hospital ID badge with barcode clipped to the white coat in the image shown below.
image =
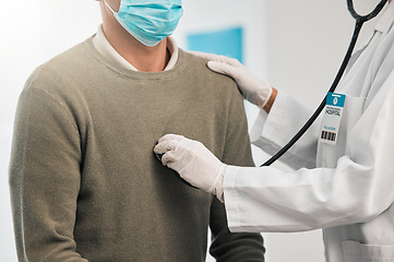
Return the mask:
<path id="1" fill-rule="evenodd" d="M 326 144 L 336 144 L 342 114 L 345 107 L 346 95 L 329 93 L 324 108 L 323 124 L 320 141 Z"/>

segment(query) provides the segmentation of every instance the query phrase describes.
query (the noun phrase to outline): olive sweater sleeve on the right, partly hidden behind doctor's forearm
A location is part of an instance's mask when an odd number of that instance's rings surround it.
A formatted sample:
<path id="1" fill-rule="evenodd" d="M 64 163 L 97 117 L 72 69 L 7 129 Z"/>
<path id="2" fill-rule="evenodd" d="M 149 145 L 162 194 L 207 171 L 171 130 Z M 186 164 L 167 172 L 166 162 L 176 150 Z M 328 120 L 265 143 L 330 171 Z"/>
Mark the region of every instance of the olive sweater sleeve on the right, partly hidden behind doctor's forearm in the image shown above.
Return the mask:
<path id="1" fill-rule="evenodd" d="M 237 88 L 234 88 L 228 109 L 227 136 L 222 160 L 231 165 L 254 166 L 243 99 Z M 216 198 L 213 199 L 211 206 L 210 226 L 213 238 L 210 253 L 218 262 L 264 261 L 265 249 L 262 236 L 260 234 L 230 233 L 225 206 Z"/>

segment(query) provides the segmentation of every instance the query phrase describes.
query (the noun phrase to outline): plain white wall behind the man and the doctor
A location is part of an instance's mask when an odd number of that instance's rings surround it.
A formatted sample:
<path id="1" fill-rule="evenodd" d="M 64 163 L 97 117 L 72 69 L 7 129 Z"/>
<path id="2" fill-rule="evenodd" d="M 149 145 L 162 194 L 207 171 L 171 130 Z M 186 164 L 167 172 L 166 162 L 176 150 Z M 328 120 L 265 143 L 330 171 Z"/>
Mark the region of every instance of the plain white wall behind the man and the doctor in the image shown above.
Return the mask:
<path id="1" fill-rule="evenodd" d="M 377 1 L 359 0 L 367 12 Z M 275 87 L 314 107 L 331 85 L 353 32 L 345 0 L 183 0 L 176 34 L 246 26 L 246 63 Z M 94 0 L 3 1 L 0 15 L 0 261 L 16 261 L 8 189 L 13 116 L 23 84 L 39 63 L 92 35 L 100 22 Z M 370 25 L 368 27 L 371 27 Z M 250 122 L 256 110 L 248 106 Z M 266 155 L 254 148 L 256 163 Z M 265 234 L 267 261 L 323 261 L 320 231 Z M 208 259 L 212 261 L 212 259 Z"/>

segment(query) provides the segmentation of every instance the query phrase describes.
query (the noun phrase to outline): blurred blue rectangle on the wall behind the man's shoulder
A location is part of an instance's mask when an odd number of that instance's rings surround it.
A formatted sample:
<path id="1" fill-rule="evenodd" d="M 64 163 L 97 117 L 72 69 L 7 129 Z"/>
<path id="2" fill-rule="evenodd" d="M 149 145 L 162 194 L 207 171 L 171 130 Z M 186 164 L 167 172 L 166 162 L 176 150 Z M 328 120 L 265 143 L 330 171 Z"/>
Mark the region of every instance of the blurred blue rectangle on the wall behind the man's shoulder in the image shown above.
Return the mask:
<path id="1" fill-rule="evenodd" d="M 187 37 L 188 50 L 223 55 L 243 62 L 242 36 L 242 27 L 189 34 Z"/>

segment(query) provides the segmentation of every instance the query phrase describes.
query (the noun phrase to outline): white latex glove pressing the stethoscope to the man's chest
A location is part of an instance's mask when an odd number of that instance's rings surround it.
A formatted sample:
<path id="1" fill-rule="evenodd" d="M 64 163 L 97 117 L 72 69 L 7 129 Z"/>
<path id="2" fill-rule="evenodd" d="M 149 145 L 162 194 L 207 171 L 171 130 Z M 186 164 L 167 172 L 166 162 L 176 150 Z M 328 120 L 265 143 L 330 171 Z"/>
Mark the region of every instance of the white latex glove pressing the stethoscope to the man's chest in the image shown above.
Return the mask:
<path id="1" fill-rule="evenodd" d="M 227 165 L 223 164 L 201 142 L 182 135 L 166 134 L 158 140 L 154 153 L 162 156 L 164 166 L 176 170 L 180 177 L 196 188 L 223 195 L 223 178 Z"/>

